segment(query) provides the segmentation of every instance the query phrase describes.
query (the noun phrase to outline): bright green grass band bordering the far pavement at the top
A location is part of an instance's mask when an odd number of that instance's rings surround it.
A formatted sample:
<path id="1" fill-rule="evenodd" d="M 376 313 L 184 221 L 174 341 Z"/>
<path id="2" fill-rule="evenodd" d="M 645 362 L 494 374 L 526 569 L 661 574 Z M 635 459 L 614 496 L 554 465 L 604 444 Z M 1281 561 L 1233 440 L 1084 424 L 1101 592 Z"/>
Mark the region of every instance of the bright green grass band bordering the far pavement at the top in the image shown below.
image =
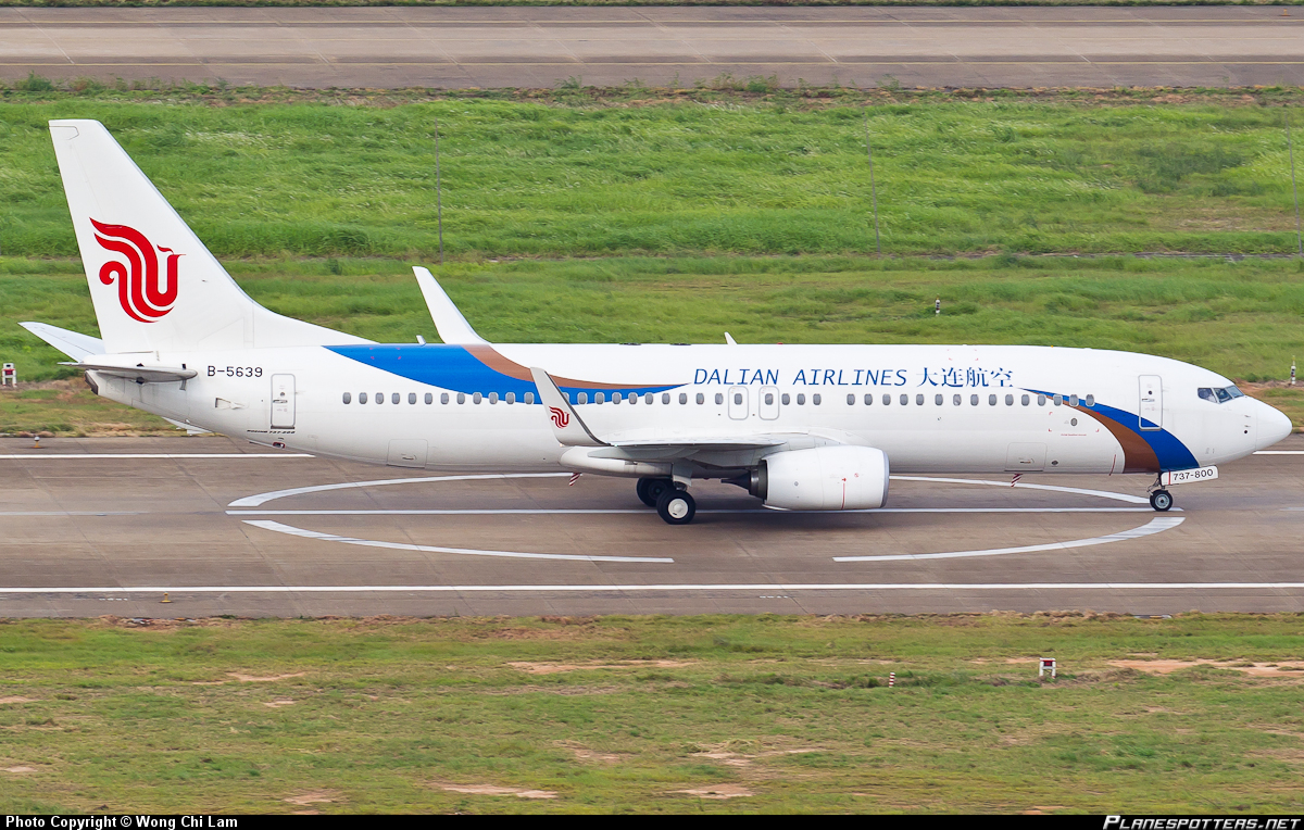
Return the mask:
<path id="1" fill-rule="evenodd" d="M 430 258 L 436 119 L 454 258 L 863 253 L 866 112 L 888 253 L 1295 246 L 1277 107 L 870 96 L 866 109 L 820 98 L 836 91 L 759 90 L 665 102 L 631 87 L 595 103 L 576 86 L 546 103 L 395 106 L 8 90 L 0 250 L 74 253 L 46 121 L 91 117 L 219 257 Z"/>

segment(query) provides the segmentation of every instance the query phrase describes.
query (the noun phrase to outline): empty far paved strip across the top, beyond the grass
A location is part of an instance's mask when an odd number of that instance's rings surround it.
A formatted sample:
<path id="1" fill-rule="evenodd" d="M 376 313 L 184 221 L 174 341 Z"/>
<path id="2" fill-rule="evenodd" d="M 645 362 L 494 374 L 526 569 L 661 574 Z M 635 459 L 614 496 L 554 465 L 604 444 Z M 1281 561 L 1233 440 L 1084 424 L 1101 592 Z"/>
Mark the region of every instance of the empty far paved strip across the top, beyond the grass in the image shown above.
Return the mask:
<path id="1" fill-rule="evenodd" d="M 1281 8 L 0 9 L 0 78 L 550 87 L 1304 83 Z"/>

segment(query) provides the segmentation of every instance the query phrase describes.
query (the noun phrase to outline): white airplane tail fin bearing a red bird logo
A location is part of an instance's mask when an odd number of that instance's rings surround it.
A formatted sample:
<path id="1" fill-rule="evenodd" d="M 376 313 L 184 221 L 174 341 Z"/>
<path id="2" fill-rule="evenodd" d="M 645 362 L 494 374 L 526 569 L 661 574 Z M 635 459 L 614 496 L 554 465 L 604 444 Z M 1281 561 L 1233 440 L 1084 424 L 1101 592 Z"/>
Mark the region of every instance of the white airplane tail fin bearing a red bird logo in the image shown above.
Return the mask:
<path id="1" fill-rule="evenodd" d="M 104 353 L 369 343 L 250 300 L 99 121 L 50 136 Z"/>

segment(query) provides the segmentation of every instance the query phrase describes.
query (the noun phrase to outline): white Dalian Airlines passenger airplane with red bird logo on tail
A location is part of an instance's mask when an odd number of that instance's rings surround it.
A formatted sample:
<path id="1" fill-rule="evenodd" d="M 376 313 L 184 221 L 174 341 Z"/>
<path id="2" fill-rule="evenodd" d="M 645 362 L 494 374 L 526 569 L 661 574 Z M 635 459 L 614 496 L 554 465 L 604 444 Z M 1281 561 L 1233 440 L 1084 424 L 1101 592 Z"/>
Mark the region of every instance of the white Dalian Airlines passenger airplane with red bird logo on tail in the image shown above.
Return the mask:
<path id="1" fill-rule="evenodd" d="M 1149 473 L 1167 486 L 1290 420 L 1128 352 L 970 345 L 532 345 L 472 331 L 425 268 L 442 345 L 379 344 L 250 300 L 98 121 L 51 121 L 102 339 L 23 326 L 102 396 L 258 444 L 409 468 L 638 479 L 670 524 L 719 478 L 785 509 L 871 509 L 908 473 Z"/>

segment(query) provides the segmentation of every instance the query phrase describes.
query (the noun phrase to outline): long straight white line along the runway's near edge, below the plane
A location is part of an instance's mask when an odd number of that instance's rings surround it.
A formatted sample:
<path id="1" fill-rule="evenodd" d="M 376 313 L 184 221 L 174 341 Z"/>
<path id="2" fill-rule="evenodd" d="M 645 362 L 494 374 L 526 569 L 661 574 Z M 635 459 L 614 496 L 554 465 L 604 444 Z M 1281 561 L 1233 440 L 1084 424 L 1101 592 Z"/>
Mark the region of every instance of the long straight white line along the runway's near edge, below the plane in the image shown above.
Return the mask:
<path id="1" fill-rule="evenodd" d="M 137 585 L 0 588 L 0 594 L 639 593 L 711 590 L 1304 590 L 1304 582 L 722 582 L 719 585 Z"/>

